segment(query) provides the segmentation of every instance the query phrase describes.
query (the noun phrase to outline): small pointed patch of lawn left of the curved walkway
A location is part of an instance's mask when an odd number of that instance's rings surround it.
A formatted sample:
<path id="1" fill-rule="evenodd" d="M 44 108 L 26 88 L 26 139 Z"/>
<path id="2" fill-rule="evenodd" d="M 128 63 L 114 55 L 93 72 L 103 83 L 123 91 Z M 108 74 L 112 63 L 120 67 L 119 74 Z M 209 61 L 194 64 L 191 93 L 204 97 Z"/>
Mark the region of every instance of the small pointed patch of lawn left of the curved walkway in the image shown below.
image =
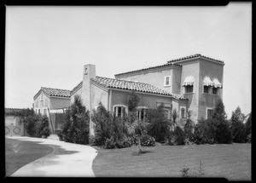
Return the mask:
<path id="1" fill-rule="evenodd" d="M 53 152 L 49 146 L 38 145 L 36 142 L 5 139 L 6 176 L 14 174 L 27 163 Z"/>

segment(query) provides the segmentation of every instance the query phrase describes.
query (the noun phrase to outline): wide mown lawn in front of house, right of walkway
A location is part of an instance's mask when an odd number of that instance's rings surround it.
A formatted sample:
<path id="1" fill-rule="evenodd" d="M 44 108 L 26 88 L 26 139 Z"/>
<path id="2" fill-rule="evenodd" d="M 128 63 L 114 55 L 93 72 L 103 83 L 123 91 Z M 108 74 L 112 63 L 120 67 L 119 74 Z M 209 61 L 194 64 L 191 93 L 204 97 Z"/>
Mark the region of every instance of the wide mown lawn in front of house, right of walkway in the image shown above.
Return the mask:
<path id="1" fill-rule="evenodd" d="M 251 180 L 251 144 L 190 145 L 99 149 L 92 169 L 96 176 L 181 177 L 180 170 L 198 172 L 200 160 L 204 176 L 228 180 Z"/>

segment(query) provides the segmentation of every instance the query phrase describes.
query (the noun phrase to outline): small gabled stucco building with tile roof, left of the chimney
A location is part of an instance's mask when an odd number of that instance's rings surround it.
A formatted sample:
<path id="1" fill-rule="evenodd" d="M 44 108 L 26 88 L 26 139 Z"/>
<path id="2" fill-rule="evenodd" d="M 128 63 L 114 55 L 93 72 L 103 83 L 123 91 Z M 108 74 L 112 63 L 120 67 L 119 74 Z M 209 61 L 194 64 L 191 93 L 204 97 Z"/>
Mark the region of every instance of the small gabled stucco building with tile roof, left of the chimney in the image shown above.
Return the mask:
<path id="1" fill-rule="evenodd" d="M 33 109 L 36 113 L 45 114 L 49 112 L 62 111 L 70 106 L 70 90 L 51 89 L 41 87 L 34 96 Z"/>

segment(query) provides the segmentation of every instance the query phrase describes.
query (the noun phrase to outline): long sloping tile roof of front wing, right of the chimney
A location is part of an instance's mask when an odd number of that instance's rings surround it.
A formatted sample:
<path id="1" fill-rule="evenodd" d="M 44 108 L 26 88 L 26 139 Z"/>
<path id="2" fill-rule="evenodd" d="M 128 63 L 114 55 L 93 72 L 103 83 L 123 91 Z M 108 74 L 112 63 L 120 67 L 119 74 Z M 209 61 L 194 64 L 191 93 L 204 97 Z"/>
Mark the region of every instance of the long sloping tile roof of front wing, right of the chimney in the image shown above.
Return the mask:
<path id="1" fill-rule="evenodd" d="M 135 91 L 145 92 L 150 94 L 163 94 L 163 95 L 172 96 L 173 98 L 176 98 L 178 100 L 188 100 L 179 94 L 170 94 L 148 83 L 137 83 L 137 82 L 120 80 L 120 79 L 107 78 L 107 77 L 92 77 L 90 78 L 90 81 L 97 83 L 105 88 L 128 89 L 128 90 L 135 90 Z"/>

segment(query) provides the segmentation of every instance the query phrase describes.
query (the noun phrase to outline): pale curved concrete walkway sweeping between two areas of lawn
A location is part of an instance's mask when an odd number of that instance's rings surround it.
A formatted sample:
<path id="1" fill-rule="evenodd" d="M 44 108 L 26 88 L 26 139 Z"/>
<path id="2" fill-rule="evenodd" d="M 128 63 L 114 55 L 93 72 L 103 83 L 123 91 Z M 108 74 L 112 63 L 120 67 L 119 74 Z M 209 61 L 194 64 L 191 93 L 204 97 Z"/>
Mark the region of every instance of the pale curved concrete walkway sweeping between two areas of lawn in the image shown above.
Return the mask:
<path id="1" fill-rule="evenodd" d="M 97 155 L 91 146 L 31 137 L 9 137 L 15 140 L 49 145 L 54 151 L 18 169 L 12 177 L 94 177 L 92 162 Z"/>

